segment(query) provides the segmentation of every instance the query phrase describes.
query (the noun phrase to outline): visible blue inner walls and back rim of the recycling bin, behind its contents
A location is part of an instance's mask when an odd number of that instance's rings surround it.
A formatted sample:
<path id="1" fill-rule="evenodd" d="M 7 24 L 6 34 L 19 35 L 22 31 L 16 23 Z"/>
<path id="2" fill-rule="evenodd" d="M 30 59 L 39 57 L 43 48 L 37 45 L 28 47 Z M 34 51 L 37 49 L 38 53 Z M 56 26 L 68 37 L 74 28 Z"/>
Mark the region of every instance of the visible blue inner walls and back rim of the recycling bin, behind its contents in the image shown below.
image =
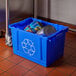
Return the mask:
<path id="1" fill-rule="evenodd" d="M 14 24 L 11 24 L 9 27 L 14 27 L 14 28 L 18 28 L 20 30 L 24 30 L 24 28 L 29 25 L 31 22 L 33 21 L 38 21 L 40 23 L 43 24 L 43 26 L 47 26 L 47 25 L 52 25 L 53 27 L 55 27 L 56 31 L 59 32 L 61 30 L 65 30 L 67 27 L 66 26 L 63 26 L 63 25 L 58 25 L 58 24 L 54 24 L 54 23 L 50 23 L 50 22 L 47 22 L 47 21 L 43 21 L 43 20 L 40 20 L 40 19 L 36 19 L 36 18 L 27 18 L 27 19 L 24 19 L 20 22 L 16 22 Z"/>

